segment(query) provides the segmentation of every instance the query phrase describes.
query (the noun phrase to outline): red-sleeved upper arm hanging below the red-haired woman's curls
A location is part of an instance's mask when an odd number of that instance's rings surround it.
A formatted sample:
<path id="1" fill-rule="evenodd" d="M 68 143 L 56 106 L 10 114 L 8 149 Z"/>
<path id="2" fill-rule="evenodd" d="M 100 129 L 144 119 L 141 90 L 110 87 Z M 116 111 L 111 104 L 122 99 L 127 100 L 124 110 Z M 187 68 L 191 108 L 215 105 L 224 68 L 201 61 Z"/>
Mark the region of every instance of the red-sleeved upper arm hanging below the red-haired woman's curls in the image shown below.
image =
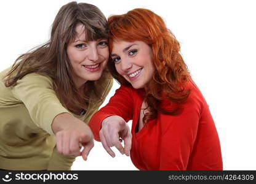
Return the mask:
<path id="1" fill-rule="evenodd" d="M 188 102 L 177 116 L 162 115 L 162 141 L 159 170 L 186 170 L 200 118 L 198 104 Z"/>

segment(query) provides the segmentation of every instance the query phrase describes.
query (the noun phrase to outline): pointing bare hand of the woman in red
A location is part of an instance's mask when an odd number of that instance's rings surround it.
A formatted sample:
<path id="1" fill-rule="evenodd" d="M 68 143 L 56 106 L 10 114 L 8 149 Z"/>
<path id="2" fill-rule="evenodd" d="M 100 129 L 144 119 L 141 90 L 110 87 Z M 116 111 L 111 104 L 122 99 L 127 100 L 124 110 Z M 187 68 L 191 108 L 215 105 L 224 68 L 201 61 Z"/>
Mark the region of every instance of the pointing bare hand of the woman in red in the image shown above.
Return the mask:
<path id="1" fill-rule="evenodd" d="M 105 150 L 114 157 L 114 151 L 110 147 L 116 147 L 120 153 L 130 155 L 132 147 L 132 134 L 126 121 L 119 116 L 111 116 L 102 121 L 102 129 L 100 129 L 100 140 Z M 121 138 L 121 139 L 120 139 Z M 124 140 L 124 147 L 121 141 Z"/>

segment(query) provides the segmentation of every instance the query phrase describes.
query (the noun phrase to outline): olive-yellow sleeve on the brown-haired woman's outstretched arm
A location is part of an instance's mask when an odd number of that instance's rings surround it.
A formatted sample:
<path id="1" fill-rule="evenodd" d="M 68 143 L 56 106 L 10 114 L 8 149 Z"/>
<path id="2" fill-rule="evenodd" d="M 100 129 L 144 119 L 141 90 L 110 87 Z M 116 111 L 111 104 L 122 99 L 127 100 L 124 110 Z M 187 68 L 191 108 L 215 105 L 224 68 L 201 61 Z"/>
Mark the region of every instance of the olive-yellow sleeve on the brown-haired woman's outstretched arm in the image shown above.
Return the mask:
<path id="1" fill-rule="evenodd" d="M 39 74 L 27 74 L 17 81 L 17 85 L 12 88 L 12 93 L 18 101 L 21 101 L 34 124 L 50 135 L 52 131 L 52 121 L 60 113 L 70 113 L 58 100 L 53 90 L 52 80 Z"/>

